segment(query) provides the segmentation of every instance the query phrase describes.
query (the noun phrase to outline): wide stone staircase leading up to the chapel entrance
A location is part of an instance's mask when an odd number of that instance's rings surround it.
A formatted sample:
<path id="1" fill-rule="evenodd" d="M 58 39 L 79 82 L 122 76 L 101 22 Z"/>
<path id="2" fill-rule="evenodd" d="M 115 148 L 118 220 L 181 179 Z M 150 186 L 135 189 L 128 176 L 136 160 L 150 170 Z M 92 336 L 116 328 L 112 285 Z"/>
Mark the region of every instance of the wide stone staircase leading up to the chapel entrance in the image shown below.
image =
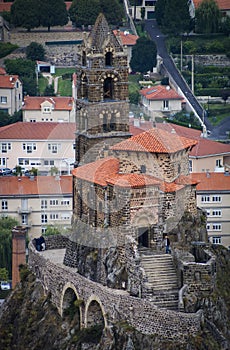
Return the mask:
<path id="1" fill-rule="evenodd" d="M 147 277 L 147 298 L 161 308 L 178 310 L 179 288 L 172 256 L 142 253 L 141 267 Z"/>

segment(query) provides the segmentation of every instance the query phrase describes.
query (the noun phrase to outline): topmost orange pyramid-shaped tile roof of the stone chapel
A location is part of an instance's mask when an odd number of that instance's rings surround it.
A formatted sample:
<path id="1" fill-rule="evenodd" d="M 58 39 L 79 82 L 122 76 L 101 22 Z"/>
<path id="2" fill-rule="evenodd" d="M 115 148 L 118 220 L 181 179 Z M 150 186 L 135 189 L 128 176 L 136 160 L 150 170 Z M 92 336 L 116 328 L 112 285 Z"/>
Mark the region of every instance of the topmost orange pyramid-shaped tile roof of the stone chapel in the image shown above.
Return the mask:
<path id="1" fill-rule="evenodd" d="M 122 141 L 112 146 L 111 149 L 150 153 L 175 153 L 182 149 L 192 147 L 196 143 L 197 141 L 195 140 L 153 128 Z"/>

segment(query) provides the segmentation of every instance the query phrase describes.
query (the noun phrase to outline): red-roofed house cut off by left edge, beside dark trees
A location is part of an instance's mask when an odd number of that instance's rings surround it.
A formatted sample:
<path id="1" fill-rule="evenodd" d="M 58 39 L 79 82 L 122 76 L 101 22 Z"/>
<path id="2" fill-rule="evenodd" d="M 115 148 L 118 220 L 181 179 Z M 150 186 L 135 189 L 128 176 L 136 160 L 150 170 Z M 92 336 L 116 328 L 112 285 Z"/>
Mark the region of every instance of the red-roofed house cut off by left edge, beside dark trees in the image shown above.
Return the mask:
<path id="1" fill-rule="evenodd" d="M 0 74 L 0 110 L 13 115 L 22 108 L 22 83 L 18 75 L 2 73 Z"/>

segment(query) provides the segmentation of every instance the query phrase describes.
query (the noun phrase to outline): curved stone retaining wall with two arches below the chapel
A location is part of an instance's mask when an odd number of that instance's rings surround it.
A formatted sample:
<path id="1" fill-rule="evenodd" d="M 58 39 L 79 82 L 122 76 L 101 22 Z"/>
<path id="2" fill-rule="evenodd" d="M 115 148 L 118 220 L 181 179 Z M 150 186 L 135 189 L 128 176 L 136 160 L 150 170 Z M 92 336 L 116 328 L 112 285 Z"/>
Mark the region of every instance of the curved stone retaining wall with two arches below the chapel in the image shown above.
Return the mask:
<path id="1" fill-rule="evenodd" d="M 202 313 L 184 314 L 159 309 L 151 302 L 129 296 L 125 291 L 114 290 L 74 272 L 69 267 L 54 264 L 29 245 L 29 266 L 41 280 L 44 290 L 51 294 L 51 300 L 62 314 L 62 301 L 66 286 L 77 292 L 84 305 L 90 301 L 100 301 L 103 306 L 105 324 L 125 320 L 144 334 L 157 335 L 160 339 L 186 342 L 200 330 Z M 84 312 L 85 309 L 82 309 Z M 87 308 L 86 308 L 87 310 Z M 82 316 L 87 324 L 87 314 Z M 82 322 L 84 325 L 84 323 Z"/>

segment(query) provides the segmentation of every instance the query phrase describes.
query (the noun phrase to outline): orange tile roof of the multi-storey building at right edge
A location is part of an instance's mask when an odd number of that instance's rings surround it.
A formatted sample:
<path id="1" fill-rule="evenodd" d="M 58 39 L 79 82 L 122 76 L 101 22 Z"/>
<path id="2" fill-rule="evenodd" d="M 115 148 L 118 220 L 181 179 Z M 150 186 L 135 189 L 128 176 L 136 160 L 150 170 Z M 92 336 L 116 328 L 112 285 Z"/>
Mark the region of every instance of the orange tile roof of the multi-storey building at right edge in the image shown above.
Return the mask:
<path id="1" fill-rule="evenodd" d="M 224 173 L 192 173 L 191 177 L 198 182 L 197 191 L 230 192 L 230 175 Z"/>

